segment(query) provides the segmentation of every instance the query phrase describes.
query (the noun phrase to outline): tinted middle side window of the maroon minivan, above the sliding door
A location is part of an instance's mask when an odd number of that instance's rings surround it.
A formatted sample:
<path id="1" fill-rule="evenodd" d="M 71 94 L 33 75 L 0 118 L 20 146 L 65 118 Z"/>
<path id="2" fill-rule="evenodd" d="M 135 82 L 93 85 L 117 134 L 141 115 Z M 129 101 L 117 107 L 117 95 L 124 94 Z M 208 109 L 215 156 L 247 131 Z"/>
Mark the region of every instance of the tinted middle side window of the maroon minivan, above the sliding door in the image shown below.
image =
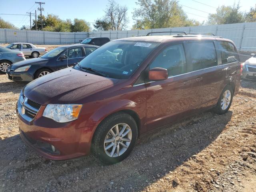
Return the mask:
<path id="1" fill-rule="evenodd" d="M 218 65 L 213 42 L 187 43 L 186 48 L 186 52 L 190 55 L 189 72 Z"/>

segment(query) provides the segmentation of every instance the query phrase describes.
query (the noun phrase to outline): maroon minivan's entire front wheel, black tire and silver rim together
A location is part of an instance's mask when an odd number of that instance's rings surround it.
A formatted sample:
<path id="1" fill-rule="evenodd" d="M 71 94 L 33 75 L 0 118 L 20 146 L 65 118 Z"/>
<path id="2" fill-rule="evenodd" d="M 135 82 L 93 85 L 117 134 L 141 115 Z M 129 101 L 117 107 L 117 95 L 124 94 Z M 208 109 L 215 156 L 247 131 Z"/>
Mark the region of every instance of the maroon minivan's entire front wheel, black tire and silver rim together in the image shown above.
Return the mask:
<path id="1" fill-rule="evenodd" d="M 105 164 L 120 162 L 132 151 L 137 135 L 137 124 L 132 116 L 116 113 L 98 126 L 92 141 L 92 153 Z"/>

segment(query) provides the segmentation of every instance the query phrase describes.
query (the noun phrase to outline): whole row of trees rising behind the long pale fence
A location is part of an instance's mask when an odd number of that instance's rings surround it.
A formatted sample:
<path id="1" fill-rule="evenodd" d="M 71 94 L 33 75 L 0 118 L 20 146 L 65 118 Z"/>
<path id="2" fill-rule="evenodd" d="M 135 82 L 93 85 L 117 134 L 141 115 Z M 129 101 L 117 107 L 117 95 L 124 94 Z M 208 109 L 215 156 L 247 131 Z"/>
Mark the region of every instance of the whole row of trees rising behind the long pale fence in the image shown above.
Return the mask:
<path id="1" fill-rule="evenodd" d="M 137 8 L 132 12 L 134 25 L 132 29 L 170 28 L 182 26 L 231 24 L 242 22 L 256 22 L 256 4 L 249 12 L 242 12 L 240 4 L 233 6 L 219 6 L 216 13 L 209 14 L 208 20 L 199 22 L 189 19 L 183 11 L 178 0 L 137 0 Z M 38 15 L 37 28 L 41 29 L 41 16 Z M 75 18 L 61 20 L 57 15 L 42 15 L 43 30 L 55 32 L 89 32 L 91 30 L 126 30 L 128 25 L 128 7 L 121 6 L 114 0 L 108 0 L 104 15 L 97 18 L 93 23 Z M 0 18 L 0 28 L 15 28 L 10 22 Z M 29 30 L 28 26 L 22 26 L 22 30 Z M 33 20 L 32 30 L 36 29 L 36 22 Z"/>

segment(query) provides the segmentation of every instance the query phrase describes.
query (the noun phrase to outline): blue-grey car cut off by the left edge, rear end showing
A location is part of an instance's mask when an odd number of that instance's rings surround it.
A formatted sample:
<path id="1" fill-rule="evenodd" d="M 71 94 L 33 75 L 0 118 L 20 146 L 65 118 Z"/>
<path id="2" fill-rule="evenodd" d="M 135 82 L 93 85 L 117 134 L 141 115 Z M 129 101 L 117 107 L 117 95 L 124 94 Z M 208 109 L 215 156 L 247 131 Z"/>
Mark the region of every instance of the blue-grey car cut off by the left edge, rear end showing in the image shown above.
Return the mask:
<path id="1" fill-rule="evenodd" d="M 26 60 L 22 51 L 14 51 L 0 47 L 0 74 L 6 73 L 8 67 L 18 61 Z"/>

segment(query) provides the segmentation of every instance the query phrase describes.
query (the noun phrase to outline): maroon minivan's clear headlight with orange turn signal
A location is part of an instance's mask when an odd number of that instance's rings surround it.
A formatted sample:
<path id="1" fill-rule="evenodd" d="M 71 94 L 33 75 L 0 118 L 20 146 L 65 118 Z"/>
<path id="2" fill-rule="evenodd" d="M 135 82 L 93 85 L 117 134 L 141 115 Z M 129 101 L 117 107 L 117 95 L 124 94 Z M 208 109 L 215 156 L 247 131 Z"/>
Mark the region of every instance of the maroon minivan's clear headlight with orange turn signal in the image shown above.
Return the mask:
<path id="1" fill-rule="evenodd" d="M 43 116 L 60 123 L 70 122 L 78 118 L 81 108 L 80 104 L 48 104 Z"/>

